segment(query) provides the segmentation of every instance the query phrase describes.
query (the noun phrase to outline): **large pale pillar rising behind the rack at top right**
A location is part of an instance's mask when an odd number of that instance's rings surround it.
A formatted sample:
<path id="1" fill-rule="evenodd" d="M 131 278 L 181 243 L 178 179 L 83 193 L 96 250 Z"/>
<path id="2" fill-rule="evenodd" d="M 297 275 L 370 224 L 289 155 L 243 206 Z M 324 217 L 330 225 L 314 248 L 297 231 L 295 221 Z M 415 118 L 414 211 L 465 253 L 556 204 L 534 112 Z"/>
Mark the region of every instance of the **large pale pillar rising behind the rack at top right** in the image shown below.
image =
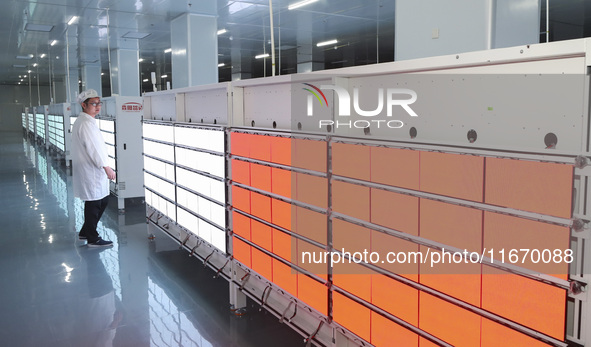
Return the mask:
<path id="1" fill-rule="evenodd" d="M 395 60 L 533 44 L 540 37 L 540 0 L 397 0 L 395 16 Z"/>

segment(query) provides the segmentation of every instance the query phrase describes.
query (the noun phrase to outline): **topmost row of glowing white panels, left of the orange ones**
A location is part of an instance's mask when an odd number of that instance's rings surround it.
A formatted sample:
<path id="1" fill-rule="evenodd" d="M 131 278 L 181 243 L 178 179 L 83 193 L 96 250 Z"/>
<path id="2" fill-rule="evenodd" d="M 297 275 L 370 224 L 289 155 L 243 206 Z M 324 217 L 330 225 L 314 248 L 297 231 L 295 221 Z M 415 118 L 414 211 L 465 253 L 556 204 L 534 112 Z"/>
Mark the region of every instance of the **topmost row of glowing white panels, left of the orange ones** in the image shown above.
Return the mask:
<path id="1" fill-rule="evenodd" d="M 189 125 L 143 124 L 144 138 L 167 142 L 179 146 L 199 148 L 224 154 L 225 138 L 221 129 L 191 127 Z M 216 175 L 223 177 L 221 175 Z"/>

